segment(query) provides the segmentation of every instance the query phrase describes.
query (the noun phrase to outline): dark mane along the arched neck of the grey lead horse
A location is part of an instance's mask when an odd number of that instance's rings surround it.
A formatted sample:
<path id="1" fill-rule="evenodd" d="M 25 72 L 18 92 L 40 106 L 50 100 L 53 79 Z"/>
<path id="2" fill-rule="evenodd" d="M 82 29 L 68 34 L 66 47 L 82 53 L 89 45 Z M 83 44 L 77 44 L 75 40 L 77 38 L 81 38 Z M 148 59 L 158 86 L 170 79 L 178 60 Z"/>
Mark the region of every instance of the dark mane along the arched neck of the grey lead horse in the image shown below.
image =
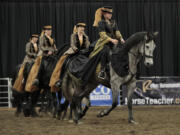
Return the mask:
<path id="1" fill-rule="evenodd" d="M 126 42 L 123 44 L 123 50 L 125 52 L 129 52 L 129 50 L 138 45 L 138 43 L 140 43 L 141 41 L 144 40 L 144 36 L 147 35 L 147 32 L 137 32 L 135 34 L 133 34 L 132 36 L 130 36 Z M 122 47 L 120 47 L 122 49 Z"/>

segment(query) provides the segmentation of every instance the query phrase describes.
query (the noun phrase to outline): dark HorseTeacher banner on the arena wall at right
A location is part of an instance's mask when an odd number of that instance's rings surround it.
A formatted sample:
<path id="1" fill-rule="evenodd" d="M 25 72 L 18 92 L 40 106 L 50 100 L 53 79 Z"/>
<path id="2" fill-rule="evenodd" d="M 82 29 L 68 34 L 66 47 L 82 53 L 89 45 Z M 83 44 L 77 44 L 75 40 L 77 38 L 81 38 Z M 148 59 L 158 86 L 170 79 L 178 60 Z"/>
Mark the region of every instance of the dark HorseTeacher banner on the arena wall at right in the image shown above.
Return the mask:
<path id="1" fill-rule="evenodd" d="M 134 105 L 180 105 L 180 77 L 147 77 L 136 83 Z M 123 87 L 123 105 L 127 89 Z"/>

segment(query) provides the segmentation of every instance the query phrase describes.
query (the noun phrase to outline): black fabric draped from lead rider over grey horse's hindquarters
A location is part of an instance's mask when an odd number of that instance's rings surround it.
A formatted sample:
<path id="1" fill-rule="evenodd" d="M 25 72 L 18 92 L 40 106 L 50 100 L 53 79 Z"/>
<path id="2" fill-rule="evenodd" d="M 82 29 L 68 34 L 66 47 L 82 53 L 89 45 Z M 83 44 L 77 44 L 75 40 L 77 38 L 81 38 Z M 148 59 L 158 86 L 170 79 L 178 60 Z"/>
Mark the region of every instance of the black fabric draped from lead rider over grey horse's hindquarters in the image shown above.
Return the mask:
<path id="1" fill-rule="evenodd" d="M 98 64 L 101 62 L 101 66 L 105 67 L 109 62 L 110 45 L 111 44 L 107 43 L 104 48 L 92 58 L 88 57 L 91 52 L 90 49 L 82 50 L 76 55 L 69 57 L 70 60 L 69 63 L 67 63 L 69 72 L 80 79 L 82 85 L 86 85 L 95 73 Z M 102 63 L 102 59 L 105 59 L 105 61 L 103 61 L 104 63 Z"/>

